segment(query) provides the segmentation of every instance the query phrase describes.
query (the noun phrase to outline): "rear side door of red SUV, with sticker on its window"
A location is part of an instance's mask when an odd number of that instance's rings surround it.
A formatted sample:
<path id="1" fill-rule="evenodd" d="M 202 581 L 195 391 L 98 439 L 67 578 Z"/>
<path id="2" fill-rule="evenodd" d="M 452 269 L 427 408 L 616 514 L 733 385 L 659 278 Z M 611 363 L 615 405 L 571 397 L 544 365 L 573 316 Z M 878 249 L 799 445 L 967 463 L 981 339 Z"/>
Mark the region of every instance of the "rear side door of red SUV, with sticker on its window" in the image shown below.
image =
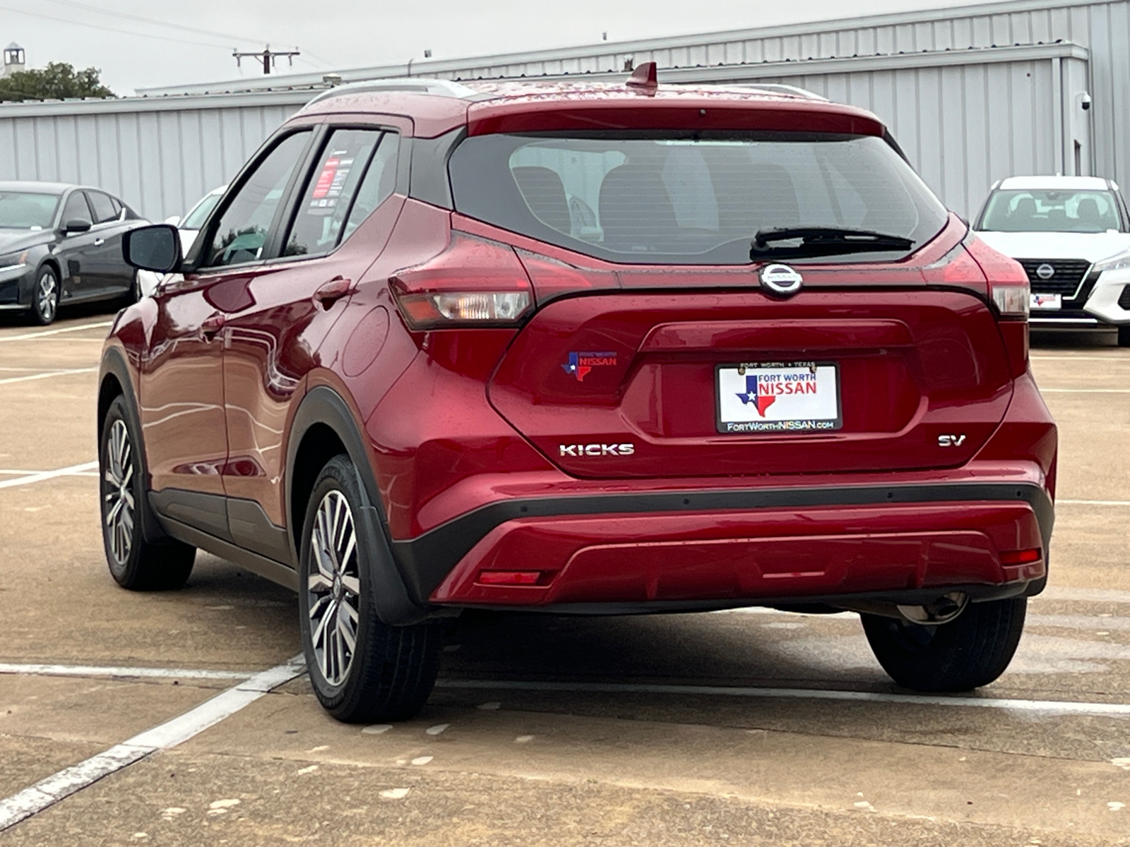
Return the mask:
<path id="1" fill-rule="evenodd" d="M 277 560 L 289 558 L 279 482 L 290 405 L 303 377 L 323 365 L 319 349 L 345 311 L 353 283 L 383 247 L 381 237 L 348 238 L 392 194 L 399 140 L 389 126 L 327 129 L 295 192 L 277 257 L 250 280 L 244 307 L 226 320 L 225 486 L 232 534 L 241 545 Z M 384 238 L 398 210 L 382 210 Z"/>

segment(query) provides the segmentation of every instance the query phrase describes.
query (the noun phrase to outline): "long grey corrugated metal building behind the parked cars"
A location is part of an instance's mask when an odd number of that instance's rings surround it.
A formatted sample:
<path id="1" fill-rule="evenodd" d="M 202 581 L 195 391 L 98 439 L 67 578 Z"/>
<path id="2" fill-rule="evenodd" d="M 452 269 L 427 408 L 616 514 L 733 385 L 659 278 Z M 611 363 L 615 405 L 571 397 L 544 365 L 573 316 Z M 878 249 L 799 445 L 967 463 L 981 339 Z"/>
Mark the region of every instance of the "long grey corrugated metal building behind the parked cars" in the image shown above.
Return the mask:
<path id="1" fill-rule="evenodd" d="M 1016 0 L 463 61 L 341 71 L 623 78 L 655 61 L 669 82 L 785 82 L 878 114 L 958 212 L 1010 174 L 1130 183 L 1130 0 Z M 321 75 L 180 86 L 115 102 L 0 105 L 0 180 L 80 180 L 150 218 L 228 180 Z M 272 86 L 268 89 L 266 86 Z M 286 86 L 279 89 L 278 86 Z M 1090 108 L 1084 110 L 1089 98 Z"/>

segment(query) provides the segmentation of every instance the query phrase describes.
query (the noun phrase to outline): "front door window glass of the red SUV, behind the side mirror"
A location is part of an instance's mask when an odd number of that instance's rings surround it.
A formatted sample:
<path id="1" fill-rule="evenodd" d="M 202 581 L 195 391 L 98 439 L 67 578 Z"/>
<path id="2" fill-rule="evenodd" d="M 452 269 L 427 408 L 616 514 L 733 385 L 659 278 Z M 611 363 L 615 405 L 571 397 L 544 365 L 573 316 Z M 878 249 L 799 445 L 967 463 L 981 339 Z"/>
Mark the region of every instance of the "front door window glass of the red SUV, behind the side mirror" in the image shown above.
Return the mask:
<path id="1" fill-rule="evenodd" d="M 275 212 L 308 140 L 308 132 L 287 136 L 259 163 L 217 221 L 205 253 L 205 267 L 240 264 L 263 257 Z"/>

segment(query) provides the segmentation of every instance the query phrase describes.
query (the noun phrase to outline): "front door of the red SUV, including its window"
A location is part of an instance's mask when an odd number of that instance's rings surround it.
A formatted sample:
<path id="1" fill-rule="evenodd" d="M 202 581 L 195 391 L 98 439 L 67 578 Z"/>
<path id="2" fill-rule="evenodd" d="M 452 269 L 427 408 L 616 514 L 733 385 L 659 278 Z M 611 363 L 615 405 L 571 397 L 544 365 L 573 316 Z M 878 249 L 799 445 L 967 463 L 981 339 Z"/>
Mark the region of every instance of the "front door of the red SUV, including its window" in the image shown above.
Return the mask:
<path id="1" fill-rule="evenodd" d="M 154 505 L 167 518 L 225 540 L 225 316 L 246 304 L 251 280 L 262 272 L 263 246 L 311 136 L 310 128 L 298 129 L 264 147 L 224 198 L 186 272 L 154 296 L 153 341 L 140 368 Z"/>

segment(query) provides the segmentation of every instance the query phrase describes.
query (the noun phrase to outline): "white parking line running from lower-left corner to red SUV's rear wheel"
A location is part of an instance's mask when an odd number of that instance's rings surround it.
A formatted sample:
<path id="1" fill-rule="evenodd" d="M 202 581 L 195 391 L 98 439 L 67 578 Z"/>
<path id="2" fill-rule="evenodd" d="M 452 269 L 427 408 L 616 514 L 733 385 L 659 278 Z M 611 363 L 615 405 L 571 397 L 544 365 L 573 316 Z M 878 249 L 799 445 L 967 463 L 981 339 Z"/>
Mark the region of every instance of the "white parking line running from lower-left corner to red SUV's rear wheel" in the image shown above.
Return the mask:
<path id="1" fill-rule="evenodd" d="M 60 770 L 31 788 L 0 800 L 0 832 L 150 753 L 167 750 L 199 735 L 305 670 L 302 656 L 295 656 L 286 664 L 257 673 L 245 682 L 221 691 L 180 717 L 166 721 L 84 762 Z"/>

